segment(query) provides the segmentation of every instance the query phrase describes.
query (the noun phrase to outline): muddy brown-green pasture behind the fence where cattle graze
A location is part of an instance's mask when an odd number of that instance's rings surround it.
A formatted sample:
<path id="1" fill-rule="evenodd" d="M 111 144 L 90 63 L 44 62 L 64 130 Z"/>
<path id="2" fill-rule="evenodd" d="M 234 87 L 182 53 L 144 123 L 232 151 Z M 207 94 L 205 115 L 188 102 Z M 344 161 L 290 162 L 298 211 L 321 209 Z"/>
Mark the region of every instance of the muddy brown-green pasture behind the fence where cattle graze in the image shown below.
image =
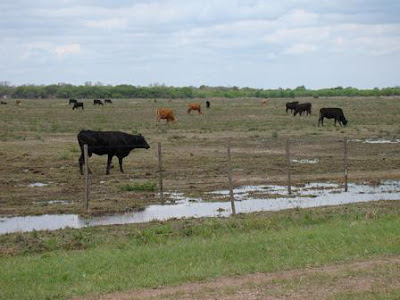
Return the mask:
<path id="1" fill-rule="evenodd" d="M 205 108 L 210 100 L 211 108 Z M 296 98 L 311 102 L 311 116 L 285 112 L 293 99 L 116 99 L 84 110 L 72 110 L 68 99 L 22 100 L 0 107 L 0 215 L 83 213 L 84 177 L 79 175 L 81 129 L 141 133 L 151 148 L 117 159 L 105 175 L 106 157 L 92 156 L 91 212 L 130 211 L 158 202 L 157 143 L 163 149 L 164 188 L 207 199 L 205 192 L 227 187 L 226 145 L 231 141 L 233 182 L 286 181 L 286 139 L 291 143 L 295 184 L 342 181 L 343 139 L 350 140 L 349 180 L 377 182 L 399 178 L 400 144 L 364 143 L 400 138 L 400 99 Z M 9 101 L 11 103 L 11 101 Z M 199 102 L 202 115 L 187 114 L 187 103 Z M 176 124 L 156 125 L 156 110 L 169 107 Z M 347 127 L 325 120 L 317 127 L 321 107 L 340 107 Z M 357 141 L 355 141 L 357 140 Z M 308 163 L 308 162 L 315 163 Z M 302 163 L 304 162 L 304 163 Z M 45 186 L 30 186 L 43 183 Z"/>

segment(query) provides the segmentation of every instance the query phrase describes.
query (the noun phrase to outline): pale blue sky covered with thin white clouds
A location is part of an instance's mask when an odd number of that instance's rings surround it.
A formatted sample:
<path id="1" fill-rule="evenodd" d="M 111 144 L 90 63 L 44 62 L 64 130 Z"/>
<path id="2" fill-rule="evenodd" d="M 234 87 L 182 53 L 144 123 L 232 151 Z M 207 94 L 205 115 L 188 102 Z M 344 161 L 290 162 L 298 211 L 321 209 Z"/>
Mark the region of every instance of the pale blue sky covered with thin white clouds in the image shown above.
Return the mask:
<path id="1" fill-rule="evenodd" d="M 399 0 L 1 0 L 12 85 L 400 85 Z"/>

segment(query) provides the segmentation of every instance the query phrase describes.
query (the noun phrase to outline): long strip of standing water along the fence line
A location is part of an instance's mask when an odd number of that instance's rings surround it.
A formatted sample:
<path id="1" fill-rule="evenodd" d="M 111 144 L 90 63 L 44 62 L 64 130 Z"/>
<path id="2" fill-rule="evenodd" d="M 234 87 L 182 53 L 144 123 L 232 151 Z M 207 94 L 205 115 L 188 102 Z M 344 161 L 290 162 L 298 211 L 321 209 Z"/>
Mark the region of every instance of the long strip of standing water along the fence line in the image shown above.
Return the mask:
<path id="1" fill-rule="evenodd" d="M 308 208 L 340 205 L 377 200 L 400 200 L 400 181 L 386 181 L 381 185 L 369 186 L 349 184 L 349 192 L 334 183 L 310 183 L 293 187 L 291 197 L 285 186 L 243 186 L 234 189 L 237 213 L 255 211 L 277 211 L 289 208 Z M 229 197 L 228 190 L 209 194 Z M 263 196 L 264 194 L 264 196 Z M 281 195 L 266 198 L 265 194 Z M 183 193 L 166 194 L 173 204 L 150 205 L 139 212 L 84 219 L 79 215 L 42 215 L 0 218 L 0 234 L 33 230 L 56 230 L 61 228 L 83 228 L 87 226 L 144 223 L 152 220 L 171 218 L 226 217 L 231 214 L 231 204 L 227 202 L 202 202 L 201 198 L 187 198 Z"/>

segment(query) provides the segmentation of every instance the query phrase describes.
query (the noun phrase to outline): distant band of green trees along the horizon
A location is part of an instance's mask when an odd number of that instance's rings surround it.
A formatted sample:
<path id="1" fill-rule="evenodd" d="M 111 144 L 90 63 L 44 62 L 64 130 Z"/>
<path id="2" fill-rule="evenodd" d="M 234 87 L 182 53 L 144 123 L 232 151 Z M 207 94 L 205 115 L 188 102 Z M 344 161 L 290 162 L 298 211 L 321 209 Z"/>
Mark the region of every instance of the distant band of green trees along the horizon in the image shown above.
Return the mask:
<path id="1" fill-rule="evenodd" d="M 355 96 L 399 96 L 400 86 L 374 89 L 357 89 L 353 87 L 335 87 L 311 90 L 305 86 L 295 89 L 255 89 L 239 87 L 170 87 L 154 85 L 148 87 L 128 84 L 116 86 L 74 86 L 71 84 L 52 85 L 0 85 L 0 97 L 8 98 L 296 98 L 296 97 L 355 97 Z"/>

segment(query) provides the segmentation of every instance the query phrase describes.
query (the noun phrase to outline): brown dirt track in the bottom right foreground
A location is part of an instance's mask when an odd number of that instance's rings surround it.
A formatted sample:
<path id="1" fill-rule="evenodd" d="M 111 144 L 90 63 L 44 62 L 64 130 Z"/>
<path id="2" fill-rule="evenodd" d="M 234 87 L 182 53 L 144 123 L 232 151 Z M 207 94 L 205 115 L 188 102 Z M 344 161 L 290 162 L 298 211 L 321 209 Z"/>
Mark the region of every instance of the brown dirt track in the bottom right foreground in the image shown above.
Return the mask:
<path id="1" fill-rule="evenodd" d="M 128 299 L 336 299 L 339 295 L 385 295 L 400 290 L 400 256 L 320 268 L 224 277 L 175 287 L 91 296 Z M 77 300 L 77 299 L 76 299 Z"/>

